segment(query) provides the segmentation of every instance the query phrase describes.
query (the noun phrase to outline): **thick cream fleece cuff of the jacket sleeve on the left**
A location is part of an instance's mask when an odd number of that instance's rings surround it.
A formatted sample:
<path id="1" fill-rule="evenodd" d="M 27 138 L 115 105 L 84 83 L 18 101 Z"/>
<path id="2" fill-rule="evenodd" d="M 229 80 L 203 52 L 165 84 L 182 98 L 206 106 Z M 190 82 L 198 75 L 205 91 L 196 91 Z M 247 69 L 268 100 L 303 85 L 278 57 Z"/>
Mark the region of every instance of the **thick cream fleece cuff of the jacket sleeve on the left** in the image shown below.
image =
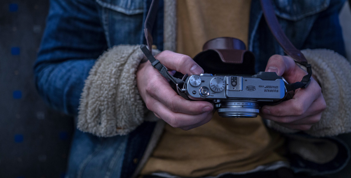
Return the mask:
<path id="1" fill-rule="evenodd" d="M 99 57 L 81 94 L 79 130 L 101 137 L 126 135 L 144 121 L 146 107 L 136 81 L 144 57 L 139 47 L 114 46 Z"/>

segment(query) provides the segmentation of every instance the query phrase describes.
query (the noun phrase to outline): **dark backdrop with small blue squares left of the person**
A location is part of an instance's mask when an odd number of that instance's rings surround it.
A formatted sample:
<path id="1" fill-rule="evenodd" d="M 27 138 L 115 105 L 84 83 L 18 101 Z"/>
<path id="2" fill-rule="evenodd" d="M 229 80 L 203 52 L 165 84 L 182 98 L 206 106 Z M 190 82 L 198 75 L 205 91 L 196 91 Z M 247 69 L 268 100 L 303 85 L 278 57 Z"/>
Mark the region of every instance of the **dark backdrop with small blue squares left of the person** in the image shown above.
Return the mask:
<path id="1" fill-rule="evenodd" d="M 73 119 L 49 109 L 33 82 L 48 0 L 0 1 L 0 177 L 63 178 Z"/>

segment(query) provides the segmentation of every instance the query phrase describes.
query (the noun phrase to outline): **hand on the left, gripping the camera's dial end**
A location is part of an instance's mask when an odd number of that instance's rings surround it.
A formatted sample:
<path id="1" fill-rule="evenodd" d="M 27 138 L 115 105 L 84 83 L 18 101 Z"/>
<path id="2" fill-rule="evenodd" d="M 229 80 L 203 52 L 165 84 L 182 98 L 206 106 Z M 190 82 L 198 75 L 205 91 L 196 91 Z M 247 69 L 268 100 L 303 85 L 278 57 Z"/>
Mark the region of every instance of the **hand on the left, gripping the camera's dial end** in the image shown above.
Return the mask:
<path id="1" fill-rule="evenodd" d="M 182 74 L 199 75 L 203 69 L 191 57 L 171 51 L 163 51 L 155 56 L 167 69 Z M 137 86 L 146 107 L 155 116 L 175 128 L 189 130 L 211 120 L 213 104 L 206 101 L 189 101 L 179 96 L 150 61 L 139 65 Z"/>

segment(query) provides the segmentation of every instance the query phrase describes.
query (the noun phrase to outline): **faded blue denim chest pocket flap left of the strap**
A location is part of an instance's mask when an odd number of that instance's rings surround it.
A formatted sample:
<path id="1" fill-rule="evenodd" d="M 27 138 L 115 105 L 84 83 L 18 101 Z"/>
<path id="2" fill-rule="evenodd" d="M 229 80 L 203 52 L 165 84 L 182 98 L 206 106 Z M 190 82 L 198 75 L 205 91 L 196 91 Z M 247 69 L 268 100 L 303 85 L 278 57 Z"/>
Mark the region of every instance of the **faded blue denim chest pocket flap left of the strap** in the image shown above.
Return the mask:
<path id="1" fill-rule="evenodd" d="M 96 2 L 102 7 L 127 15 L 144 12 L 143 0 L 96 0 Z"/>

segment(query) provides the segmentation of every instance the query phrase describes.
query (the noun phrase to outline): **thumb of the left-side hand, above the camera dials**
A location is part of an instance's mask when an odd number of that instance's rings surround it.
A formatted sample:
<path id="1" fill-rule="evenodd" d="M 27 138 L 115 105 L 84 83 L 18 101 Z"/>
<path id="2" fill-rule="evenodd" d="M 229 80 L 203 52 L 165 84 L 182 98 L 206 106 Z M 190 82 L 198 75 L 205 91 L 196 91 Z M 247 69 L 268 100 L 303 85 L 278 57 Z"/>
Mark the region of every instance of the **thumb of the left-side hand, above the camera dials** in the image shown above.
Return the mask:
<path id="1" fill-rule="evenodd" d="M 199 64 L 191 57 L 165 50 L 155 56 L 164 66 L 170 70 L 177 70 L 182 74 L 198 75 L 204 73 Z"/>

